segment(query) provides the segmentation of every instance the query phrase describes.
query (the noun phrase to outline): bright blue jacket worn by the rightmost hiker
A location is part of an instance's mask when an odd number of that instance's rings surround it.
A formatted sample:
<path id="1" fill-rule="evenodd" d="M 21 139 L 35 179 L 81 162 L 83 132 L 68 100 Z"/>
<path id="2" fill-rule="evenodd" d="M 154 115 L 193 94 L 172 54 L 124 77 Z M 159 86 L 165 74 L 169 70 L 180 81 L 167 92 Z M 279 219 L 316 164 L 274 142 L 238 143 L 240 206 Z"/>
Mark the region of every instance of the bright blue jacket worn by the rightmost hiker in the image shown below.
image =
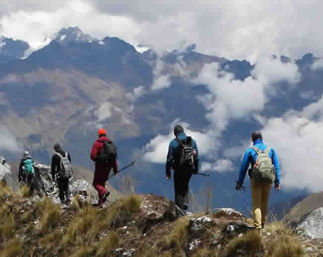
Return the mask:
<path id="1" fill-rule="evenodd" d="M 256 139 L 254 142 L 254 146 L 258 147 L 262 151 L 267 148 L 267 145 L 265 145 L 262 142 L 262 139 Z M 274 165 L 275 170 L 276 170 L 275 183 L 280 184 L 280 170 L 279 170 L 279 162 L 278 162 L 277 154 L 276 154 L 275 150 L 271 148 L 268 155 L 271 158 L 272 164 Z M 249 164 L 252 165 L 251 167 L 254 167 L 256 160 L 257 160 L 257 154 L 256 154 L 255 150 L 252 148 L 249 148 L 246 151 L 245 156 L 242 160 L 240 174 L 239 174 L 239 180 L 238 180 L 239 183 L 242 184 L 244 182 L 244 179 L 247 174 L 247 170 L 249 168 Z"/>

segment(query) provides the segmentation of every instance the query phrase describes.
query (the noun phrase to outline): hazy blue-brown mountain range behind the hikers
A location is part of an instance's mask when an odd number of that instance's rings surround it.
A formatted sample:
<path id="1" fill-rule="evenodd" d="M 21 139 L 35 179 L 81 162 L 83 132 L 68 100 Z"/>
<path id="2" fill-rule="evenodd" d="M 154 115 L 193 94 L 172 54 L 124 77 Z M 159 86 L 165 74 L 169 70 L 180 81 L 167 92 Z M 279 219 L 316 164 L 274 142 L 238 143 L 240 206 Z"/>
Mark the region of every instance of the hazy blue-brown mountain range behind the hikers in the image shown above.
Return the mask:
<path id="1" fill-rule="evenodd" d="M 93 169 L 90 148 L 97 129 L 104 127 L 118 146 L 121 166 L 133 158 L 138 160 L 134 169 L 125 172 L 132 175 L 136 192 L 169 198 L 173 198 L 173 189 L 164 178 L 164 164 L 143 160 L 142 149 L 156 136 L 167 134 L 178 118 L 201 133 L 211 126 L 205 117 L 205 103 L 198 100 L 209 89 L 193 83 L 205 64 L 218 64 L 240 81 L 250 77 L 255 68 L 246 60 L 200 54 L 194 45 L 163 55 L 150 49 L 141 53 L 122 39 L 95 39 L 78 27 L 64 28 L 51 39 L 27 57 L 27 42 L 0 38 L 1 136 L 13 137 L 16 142 L 15 147 L 1 150 L 18 159 L 23 149 L 28 149 L 39 161 L 49 163 L 54 143 L 62 142 L 73 163 Z M 288 57 L 272 58 L 292 62 Z M 285 101 L 278 94 L 261 115 L 272 117 L 290 108 L 301 110 L 313 101 L 313 96 L 321 96 L 323 71 L 311 68 L 317 59 L 306 54 L 295 60 L 301 72 L 298 87 L 306 86 L 312 94 L 306 97 L 295 88 L 286 89 L 282 94 Z M 286 88 L 285 84 L 281 88 Z M 237 120 L 223 131 L 222 141 L 234 145 L 250 137 L 251 128 L 259 127 L 254 120 Z M 238 166 L 239 160 L 234 164 Z M 192 179 L 192 191 L 203 197 L 201 188 L 212 185 L 212 205 L 229 203 L 246 211 L 246 206 L 251 206 L 250 191 L 234 191 L 237 176 L 237 171 L 228 170 L 212 173 L 209 180 Z M 306 189 L 284 191 L 274 194 L 271 203 L 307 193 Z"/>

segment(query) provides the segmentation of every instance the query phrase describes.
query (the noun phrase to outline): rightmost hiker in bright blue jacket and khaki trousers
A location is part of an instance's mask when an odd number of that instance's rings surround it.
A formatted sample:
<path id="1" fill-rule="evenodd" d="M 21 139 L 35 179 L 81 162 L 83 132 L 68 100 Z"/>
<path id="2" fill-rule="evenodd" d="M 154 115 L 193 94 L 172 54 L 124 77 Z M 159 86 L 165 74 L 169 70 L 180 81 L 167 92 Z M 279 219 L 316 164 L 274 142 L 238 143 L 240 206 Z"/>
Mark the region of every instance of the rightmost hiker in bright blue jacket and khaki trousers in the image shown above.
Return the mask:
<path id="1" fill-rule="evenodd" d="M 243 158 L 239 180 L 237 182 L 236 190 L 240 190 L 242 188 L 244 179 L 247 174 L 247 170 L 249 165 L 251 167 L 255 167 L 256 160 L 258 157 L 258 151 L 265 151 L 267 149 L 267 145 L 263 143 L 262 134 L 260 131 L 254 131 L 251 135 L 251 139 L 254 143 L 254 147 L 249 148 L 245 156 Z M 271 163 L 274 166 L 275 170 L 275 190 L 280 189 L 280 170 L 279 170 L 279 162 L 277 158 L 277 154 L 273 148 L 269 149 L 268 156 L 271 159 Z M 252 175 L 252 169 L 249 170 L 249 176 Z M 256 182 L 251 176 L 250 186 L 252 190 L 252 198 L 253 198 L 253 210 L 254 210 L 254 219 L 255 219 L 255 227 L 257 229 L 261 229 L 264 226 L 266 221 L 267 209 L 268 209 L 268 199 L 271 188 L 271 183 L 265 182 Z"/>

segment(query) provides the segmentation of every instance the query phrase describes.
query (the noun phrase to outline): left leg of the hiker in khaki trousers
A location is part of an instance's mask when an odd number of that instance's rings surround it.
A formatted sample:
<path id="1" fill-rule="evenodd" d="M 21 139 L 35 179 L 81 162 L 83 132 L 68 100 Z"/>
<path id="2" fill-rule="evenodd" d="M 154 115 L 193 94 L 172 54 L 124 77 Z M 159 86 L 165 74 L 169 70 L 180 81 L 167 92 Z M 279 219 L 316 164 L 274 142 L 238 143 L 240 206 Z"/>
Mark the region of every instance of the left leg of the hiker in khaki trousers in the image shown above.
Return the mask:
<path id="1" fill-rule="evenodd" d="M 254 224 L 257 229 L 261 228 L 261 193 L 262 188 L 253 179 L 250 180 L 251 193 L 253 198 Z"/>

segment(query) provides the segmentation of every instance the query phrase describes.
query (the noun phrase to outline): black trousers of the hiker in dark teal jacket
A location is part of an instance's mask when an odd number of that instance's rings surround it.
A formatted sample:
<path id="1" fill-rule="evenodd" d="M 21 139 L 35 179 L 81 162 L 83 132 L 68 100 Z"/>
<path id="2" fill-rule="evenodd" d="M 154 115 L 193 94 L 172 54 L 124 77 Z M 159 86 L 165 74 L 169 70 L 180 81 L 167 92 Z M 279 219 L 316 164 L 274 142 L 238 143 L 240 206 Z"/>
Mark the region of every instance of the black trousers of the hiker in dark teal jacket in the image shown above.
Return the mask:
<path id="1" fill-rule="evenodd" d="M 189 208 L 189 184 L 192 173 L 186 169 L 176 169 L 174 172 L 175 204 L 184 212 Z"/>

